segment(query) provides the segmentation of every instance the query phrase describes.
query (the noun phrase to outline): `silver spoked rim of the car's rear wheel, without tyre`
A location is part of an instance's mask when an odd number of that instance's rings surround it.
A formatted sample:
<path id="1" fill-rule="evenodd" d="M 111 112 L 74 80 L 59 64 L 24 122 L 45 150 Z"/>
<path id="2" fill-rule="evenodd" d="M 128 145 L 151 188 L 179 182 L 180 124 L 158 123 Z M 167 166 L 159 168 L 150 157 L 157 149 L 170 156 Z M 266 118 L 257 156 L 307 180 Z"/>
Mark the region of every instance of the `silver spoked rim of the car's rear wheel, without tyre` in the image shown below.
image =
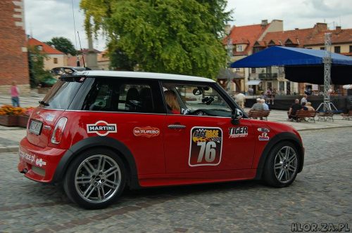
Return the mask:
<path id="1" fill-rule="evenodd" d="M 85 201 L 99 204 L 111 199 L 121 185 L 118 163 L 103 154 L 84 159 L 75 173 L 75 188 Z"/>

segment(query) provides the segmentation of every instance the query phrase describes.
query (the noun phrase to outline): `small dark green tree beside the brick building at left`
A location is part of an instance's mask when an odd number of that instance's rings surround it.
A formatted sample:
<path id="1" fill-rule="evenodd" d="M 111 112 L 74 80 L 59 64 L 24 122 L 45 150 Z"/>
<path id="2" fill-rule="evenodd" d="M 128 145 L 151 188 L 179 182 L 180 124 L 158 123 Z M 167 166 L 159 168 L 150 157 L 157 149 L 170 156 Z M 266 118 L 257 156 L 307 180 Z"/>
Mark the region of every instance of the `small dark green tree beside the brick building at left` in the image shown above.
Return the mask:
<path id="1" fill-rule="evenodd" d="M 44 70 L 44 59 L 48 56 L 39 51 L 37 46 L 28 46 L 28 60 L 30 67 L 30 86 L 35 88 L 52 75 L 48 70 Z"/>

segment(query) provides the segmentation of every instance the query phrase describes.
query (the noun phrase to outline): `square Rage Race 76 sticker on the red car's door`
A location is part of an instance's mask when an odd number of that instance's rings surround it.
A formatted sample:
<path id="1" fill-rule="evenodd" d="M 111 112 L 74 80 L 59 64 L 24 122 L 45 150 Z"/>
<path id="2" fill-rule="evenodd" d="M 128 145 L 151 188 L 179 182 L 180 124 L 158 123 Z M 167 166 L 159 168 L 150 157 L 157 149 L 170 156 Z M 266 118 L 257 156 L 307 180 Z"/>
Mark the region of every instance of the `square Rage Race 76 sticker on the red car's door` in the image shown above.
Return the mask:
<path id="1" fill-rule="evenodd" d="M 191 129 L 189 166 L 216 166 L 222 152 L 221 128 L 194 127 Z"/>

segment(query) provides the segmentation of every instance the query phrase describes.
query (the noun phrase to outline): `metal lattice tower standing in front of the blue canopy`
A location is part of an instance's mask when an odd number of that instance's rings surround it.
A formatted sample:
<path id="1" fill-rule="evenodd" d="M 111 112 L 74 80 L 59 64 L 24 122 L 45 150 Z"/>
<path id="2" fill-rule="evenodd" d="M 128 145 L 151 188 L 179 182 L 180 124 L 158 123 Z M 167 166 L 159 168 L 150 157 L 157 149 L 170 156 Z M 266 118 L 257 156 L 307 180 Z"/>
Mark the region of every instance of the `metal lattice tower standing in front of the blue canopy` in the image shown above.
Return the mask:
<path id="1" fill-rule="evenodd" d="M 325 57 L 322 59 L 322 62 L 324 63 L 324 102 L 322 102 L 317 111 L 320 110 L 320 107 L 322 107 L 324 112 L 332 111 L 332 107 L 334 107 L 335 110 L 337 108 L 330 102 L 330 93 L 329 91 L 331 90 L 331 64 L 332 64 L 332 59 L 331 59 L 331 33 L 325 33 Z"/>

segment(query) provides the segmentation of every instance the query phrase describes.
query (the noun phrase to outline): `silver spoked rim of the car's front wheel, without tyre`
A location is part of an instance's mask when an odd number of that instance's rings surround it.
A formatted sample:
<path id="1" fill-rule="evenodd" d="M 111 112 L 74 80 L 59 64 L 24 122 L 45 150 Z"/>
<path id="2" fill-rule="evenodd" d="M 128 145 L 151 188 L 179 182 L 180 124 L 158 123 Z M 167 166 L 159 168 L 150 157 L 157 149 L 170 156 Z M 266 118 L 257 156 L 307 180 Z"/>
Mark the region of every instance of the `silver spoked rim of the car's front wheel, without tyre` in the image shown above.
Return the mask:
<path id="1" fill-rule="evenodd" d="M 290 182 L 297 172 L 297 154 L 292 147 L 282 147 L 277 152 L 274 161 L 274 172 L 277 180 L 282 183 Z"/>

